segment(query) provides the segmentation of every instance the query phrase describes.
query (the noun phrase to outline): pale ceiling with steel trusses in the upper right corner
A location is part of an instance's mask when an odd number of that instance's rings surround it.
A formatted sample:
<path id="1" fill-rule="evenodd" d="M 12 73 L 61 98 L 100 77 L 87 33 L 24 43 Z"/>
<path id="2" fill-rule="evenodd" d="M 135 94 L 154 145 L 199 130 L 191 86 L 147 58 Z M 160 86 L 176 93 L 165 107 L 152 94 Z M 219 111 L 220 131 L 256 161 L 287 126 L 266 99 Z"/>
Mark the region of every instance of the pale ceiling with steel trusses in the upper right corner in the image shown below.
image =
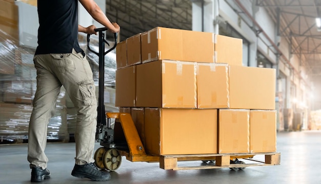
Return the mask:
<path id="1" fill-rule="evenodd" d="M 256 6 L 264 7 L 272 14 L 275 23 L 279 20 L 279 36 L 292 43 L 290 54 L 296 54 L 301 59 L 301 65 L 306 68 L 309 79 L 319 85 L 321 81 L 321 28 L 317 29 L 315 19 L 321 17 L 321 1 L 255 1 Z"/>

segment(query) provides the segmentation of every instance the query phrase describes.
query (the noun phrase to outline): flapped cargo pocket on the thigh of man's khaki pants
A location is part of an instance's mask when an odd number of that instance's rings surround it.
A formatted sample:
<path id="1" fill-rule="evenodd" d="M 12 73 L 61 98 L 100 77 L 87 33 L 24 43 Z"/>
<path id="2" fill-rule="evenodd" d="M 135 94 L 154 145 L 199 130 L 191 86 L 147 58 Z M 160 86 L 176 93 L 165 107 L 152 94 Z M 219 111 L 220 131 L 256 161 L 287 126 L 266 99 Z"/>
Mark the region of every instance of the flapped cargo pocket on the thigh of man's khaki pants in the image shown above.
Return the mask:
<path id="1" fill-rule="evenodd" d="M 83 96 L 84 105 L 97 105 L 96 94 L 95 94 L 95 84 L 93 80 L 85 80 L 77 82 L 79 90 Z"/>

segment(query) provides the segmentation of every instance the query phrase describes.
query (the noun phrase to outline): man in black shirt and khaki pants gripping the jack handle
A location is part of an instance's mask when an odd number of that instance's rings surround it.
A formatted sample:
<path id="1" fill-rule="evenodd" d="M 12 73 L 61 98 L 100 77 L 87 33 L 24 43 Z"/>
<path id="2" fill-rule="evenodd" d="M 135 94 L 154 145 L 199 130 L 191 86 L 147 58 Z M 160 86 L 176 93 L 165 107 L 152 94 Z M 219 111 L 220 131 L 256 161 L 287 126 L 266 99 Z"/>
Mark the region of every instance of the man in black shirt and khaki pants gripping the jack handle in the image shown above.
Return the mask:
<path id="1" fill-rule="evenodd" d="M 115 33 L 111 23 L 93 0 L 79 0 L 97 22 Z M 37 89 L 29 123 L 28 161 L 31 181 L 50 178 L 48 158 L 44 151 L 47 125 L 54 115 L 62 86 L 77 109 L 75 131 L 76 157 L 71 175 L 96 181 L 110 179 L 108 172 L 94 165 L 92 154 L 95 143 L 97 102 L 90 65 L 78 44 L 78 31 L 96 34 L 95 26 L 82 27 L 77 23 L 78 0 L 38 0 L 38 46 L 34 56 L 37 70 Z"/>

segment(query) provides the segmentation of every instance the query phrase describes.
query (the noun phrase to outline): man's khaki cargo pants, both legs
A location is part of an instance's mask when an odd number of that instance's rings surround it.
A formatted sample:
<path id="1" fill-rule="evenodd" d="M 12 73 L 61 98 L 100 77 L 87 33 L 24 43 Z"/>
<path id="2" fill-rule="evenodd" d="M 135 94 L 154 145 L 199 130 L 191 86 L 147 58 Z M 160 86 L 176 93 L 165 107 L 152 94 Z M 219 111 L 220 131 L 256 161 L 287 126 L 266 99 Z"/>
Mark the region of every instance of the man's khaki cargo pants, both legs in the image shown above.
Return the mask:
<path id="1" fill-rule="evenodd" d="M 37 89 L 29 123 L 28 161 L 30 168 L 47 168 L 45 155 L 47 126 L 55 113 L 62 85 L 76 110 L 76 164 L 93 162 L 97 101 L 90 65 L 82 52 L 39 54 L 34 57 L 37 70 Z M 64 151 L 62 150 L 61 154 Z"/>

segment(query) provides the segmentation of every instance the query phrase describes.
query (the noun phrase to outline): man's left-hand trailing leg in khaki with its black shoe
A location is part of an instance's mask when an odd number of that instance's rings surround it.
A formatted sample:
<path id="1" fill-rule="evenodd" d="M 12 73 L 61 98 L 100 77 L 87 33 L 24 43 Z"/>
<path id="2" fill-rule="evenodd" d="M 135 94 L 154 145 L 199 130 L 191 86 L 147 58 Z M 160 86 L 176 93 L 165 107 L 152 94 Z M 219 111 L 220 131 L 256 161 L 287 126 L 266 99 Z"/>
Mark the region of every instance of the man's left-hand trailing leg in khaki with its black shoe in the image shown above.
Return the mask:
<path id="1" fill-rule="evenodd" d="M 33 99 L 33 110 L 29 122 L 28 161 L 30 162 L 31 181 L 39 182 L 50 177 L 45 155 L 47 125 L 55 113 L 57 97 L 62 84 L 50 72 L 46 55 L 34 57 L 37 69 L 37 90 Z"/>

